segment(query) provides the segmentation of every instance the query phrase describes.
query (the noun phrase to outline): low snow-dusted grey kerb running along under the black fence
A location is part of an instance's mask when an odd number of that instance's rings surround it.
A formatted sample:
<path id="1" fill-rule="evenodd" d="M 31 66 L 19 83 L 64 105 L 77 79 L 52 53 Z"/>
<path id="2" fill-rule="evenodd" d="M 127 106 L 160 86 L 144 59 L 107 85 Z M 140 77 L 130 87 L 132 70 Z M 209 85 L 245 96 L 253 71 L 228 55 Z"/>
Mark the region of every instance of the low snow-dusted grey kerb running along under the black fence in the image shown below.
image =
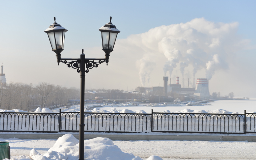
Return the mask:
<path id="1" fill-rule="evenodd" d="M 73 134 L 79 139 L 78 132 L 61 133 L 14 133 L 0 132 L 0 138 L 18 138 L 18 139 L 58 139 L 64 134 Z M 137 141 L 137 140 L 176 140 L 176 141 L 248 141 L 256 142 L 256 134 L 193 134 L 193 133 L 85 133 L 84 139 L 96 137 L 109 138 L 113 141 Z"/>

